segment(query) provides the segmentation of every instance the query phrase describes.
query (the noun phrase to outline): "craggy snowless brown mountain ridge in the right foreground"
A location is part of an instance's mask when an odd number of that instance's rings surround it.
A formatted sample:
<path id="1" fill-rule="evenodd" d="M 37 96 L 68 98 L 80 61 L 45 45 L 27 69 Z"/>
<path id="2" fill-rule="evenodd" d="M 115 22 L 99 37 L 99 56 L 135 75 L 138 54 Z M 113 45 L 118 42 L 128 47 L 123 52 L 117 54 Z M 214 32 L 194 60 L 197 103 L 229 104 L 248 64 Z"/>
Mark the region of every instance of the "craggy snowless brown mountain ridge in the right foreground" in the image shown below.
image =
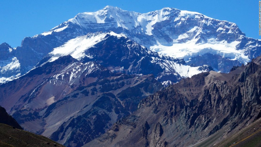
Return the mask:
<path id="1" fill-rule="evenodd" d="M 84 146 L 213 146 L 247 126 L 260 129 L 259 63 L 182 79 L 144 98 L 137 111 Z"/>

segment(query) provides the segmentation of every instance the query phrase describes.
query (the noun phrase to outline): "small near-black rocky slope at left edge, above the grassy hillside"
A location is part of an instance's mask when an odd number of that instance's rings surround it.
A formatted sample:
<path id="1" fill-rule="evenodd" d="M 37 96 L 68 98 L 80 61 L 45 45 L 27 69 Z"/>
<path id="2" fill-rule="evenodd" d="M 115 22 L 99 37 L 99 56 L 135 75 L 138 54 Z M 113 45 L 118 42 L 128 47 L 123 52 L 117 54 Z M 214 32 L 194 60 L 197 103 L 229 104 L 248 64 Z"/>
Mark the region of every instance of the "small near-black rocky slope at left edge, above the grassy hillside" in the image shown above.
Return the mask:
<path id="1" fill-rule="evenodd" d="M 6 124 L 15 127 L 17 129 L 23 130 L 23 128 L 17 123 L 17 121 L 12 116 L 8 115 L 5 109 L 1 106 L 0 106 L 0 118 L 1 118 L 0 120 L 1 124 Z"/>

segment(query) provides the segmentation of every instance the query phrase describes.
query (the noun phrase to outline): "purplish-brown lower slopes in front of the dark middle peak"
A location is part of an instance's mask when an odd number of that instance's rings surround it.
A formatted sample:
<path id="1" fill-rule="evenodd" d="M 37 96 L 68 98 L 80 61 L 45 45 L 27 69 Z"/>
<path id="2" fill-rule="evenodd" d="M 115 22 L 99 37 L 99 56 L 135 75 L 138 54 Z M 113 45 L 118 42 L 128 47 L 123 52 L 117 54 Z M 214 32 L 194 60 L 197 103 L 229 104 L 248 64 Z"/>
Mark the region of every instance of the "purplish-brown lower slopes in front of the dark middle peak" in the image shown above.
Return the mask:
<path id="1" fill-rule="evenodd" d="M 61 56 L 1 85 L 0 103 L 25 130 L 82 146 L 162 88 L 152 74 L 121 71 Z"/>

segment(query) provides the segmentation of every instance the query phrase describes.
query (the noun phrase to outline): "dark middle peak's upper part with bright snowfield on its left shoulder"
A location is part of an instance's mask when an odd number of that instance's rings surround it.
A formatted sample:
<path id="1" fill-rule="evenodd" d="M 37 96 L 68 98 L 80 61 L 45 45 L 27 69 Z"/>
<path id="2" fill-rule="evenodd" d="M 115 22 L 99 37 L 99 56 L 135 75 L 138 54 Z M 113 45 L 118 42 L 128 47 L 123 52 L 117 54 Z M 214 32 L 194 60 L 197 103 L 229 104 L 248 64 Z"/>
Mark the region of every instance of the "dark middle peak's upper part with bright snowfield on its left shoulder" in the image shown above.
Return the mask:
<path id="1" fill-rule="evenodd" d="M 122 52 L 122 53 L 121 53 Z M 194 74 L 207 72 L 208 66 L 191 67 L 177 63 L 177 60 L 159 55 L 144 46 L 130 40 L 126 35 L 108 33 L 89 33 L 69 40 L 64 45 L 55 48 L 48 60 L 52 62 L 61 56 L 71 55 L 73 58 L 85 62 L 98 61 L 105 67 L 122 67 L 122 72 L 132 74 L 154 74 L 162 80 L 166 74 L 173 74 L 169 78 L 177 82 L 181 78 L 191 77 Z"/>

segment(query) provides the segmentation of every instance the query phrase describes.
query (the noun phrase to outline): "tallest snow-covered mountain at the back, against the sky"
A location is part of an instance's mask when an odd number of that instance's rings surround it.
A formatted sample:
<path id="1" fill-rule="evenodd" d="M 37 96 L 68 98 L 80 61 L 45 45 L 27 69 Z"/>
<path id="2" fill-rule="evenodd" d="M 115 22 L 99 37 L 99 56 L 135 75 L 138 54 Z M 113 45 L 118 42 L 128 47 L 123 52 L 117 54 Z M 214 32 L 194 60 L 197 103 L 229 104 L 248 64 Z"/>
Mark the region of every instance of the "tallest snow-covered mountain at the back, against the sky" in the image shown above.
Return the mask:
<path id="1" fill-rule="evenodd" d="M 79 13 L 48 32 L 26 37 L 16 48 L 2 44 L 1 54 L 9 58 L 1 61 L 1 83 L 27 73 L 69 40 L 100 31 L 124 34 L 160 55 L 183 59 L 185 65 L 209 65 L 220 72 L 229 72 L 261 53 L 260 41 L 246 37 L 235 23 L 175 8 L 141 14 L 106 6 L 96 12 Z"/>

